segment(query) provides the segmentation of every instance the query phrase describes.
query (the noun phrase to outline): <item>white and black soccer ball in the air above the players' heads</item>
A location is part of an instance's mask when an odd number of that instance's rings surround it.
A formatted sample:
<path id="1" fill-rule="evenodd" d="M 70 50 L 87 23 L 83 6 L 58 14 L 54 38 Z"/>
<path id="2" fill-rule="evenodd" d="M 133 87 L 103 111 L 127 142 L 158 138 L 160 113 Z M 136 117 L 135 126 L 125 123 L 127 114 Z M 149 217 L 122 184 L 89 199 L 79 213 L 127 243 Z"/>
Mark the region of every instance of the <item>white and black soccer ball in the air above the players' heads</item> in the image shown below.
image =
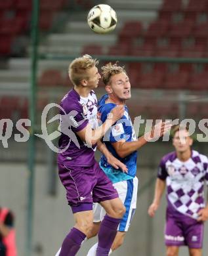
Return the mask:
<path id="1" fill-rule="evenodd" d="M 87 16 L 87 22 L 95 33 L 108 33 L 117 24 L 117 15 L 109 5 L 95 5 Z"/>

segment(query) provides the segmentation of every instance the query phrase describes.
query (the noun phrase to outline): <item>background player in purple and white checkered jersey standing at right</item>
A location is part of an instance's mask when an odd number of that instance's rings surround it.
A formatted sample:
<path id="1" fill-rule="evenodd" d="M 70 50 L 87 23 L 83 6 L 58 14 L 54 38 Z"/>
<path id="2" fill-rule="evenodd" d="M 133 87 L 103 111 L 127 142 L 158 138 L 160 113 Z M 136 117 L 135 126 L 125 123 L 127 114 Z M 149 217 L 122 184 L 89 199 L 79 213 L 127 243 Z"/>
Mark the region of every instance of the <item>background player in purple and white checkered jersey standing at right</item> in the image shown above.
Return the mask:
<path id="1" fill-rule="evenodd" d="M 208 185 L 208 159 L 192 150 L 192 143 L 186 127 L 173 129 L 175 152 L 161 159 L 154 200 L 148 209 L 154 217 L 166 186 L 167 256 L 178 256 L 181 245 L 188 246 L 190 256 L 202 255 L 203 227 L 208 219 L 208 203 L 205 205 L 203 196 L 204 183 Z"/>

